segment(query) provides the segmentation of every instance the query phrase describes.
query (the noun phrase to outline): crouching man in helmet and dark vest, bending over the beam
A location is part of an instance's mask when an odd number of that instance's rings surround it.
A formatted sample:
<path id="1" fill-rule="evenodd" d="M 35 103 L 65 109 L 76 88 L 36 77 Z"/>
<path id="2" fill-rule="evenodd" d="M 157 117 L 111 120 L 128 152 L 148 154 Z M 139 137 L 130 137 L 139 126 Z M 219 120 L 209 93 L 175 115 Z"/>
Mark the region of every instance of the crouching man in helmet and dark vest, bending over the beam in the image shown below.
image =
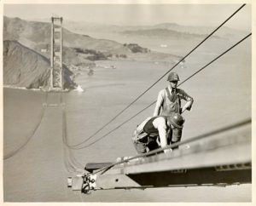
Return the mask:
<path id="1" fill-rule="evenodd" d="M 137 126 L 132 135 L 133 145 L 137 153 L 163 148 L 170 144 L 173 137 L 180 139 L 184 121 L 184 118 L 178 113 L 172 113 L 168 117 L 148 117 Z M 170 152 L 170 150 L 164 152 Z"/>

